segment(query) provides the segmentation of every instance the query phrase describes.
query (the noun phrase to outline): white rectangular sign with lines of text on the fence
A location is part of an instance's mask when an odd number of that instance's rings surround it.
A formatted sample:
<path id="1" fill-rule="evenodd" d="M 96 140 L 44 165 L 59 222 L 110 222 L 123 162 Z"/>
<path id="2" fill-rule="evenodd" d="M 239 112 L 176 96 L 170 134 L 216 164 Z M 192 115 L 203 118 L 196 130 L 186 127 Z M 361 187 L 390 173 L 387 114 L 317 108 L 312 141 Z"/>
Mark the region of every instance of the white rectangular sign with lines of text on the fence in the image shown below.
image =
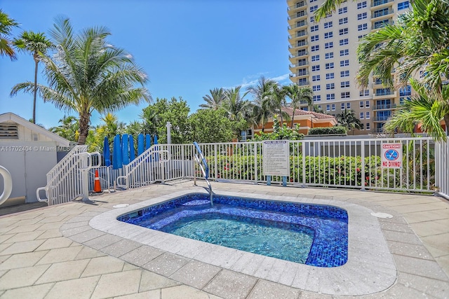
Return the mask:
<path id="1" fill-rule="evenodd" d="M 290 148 L 287 140 L 263 141 L 264 176 L 290 176 Z"/>

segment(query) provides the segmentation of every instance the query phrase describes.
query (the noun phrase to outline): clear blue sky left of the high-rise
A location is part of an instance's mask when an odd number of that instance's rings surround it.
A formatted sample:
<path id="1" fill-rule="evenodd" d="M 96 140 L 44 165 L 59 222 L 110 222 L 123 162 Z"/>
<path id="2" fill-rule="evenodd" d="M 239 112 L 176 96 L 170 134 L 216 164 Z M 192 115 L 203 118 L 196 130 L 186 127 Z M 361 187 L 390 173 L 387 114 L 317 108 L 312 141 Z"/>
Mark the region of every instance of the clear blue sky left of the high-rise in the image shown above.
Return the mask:
<path id="1" fill-rule="evenodd" d="M 290 83 L 283 0 L 0 0 L 0 8 L 20 23 L 13 36 L 22 30 L 48 35 L 60 15 L 70 18 L 76 32 L 107 27 L 108 41 L 126 49 L 147 72 L 152 97 L 182 97 L 191 112 L 213 88 L 245 88 L 262 75 Z M 19 54 L 13 62 L 0 57 L 0 113 L 32 118 L 32 95 L 9 93 L 33 76 L 31 55 Z M 41 76 L 38 81 L 46 84 Z M 145 106 L 128 106 L 116 115 L 129 123 Z M 38 98 L 36 123 L 53 127 L 65 114 Z M 92 125 L 99 118 L 95 113 Z"/>

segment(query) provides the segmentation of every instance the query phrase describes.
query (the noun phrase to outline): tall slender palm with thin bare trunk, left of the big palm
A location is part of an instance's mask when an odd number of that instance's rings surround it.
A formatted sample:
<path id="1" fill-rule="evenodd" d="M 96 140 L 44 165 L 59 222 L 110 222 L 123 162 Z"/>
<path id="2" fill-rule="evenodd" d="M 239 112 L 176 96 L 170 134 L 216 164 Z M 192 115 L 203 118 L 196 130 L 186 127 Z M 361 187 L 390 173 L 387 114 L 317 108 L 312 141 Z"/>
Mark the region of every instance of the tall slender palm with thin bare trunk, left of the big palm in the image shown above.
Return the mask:
<path id="1" fill-rule="evenodd" d="M 32 53 L 34 59 L 34 90 L 33 90 L 33 118 L 32 123 L 36 123 L 36 94 L 37 94 L 37 67 L 41 55 L 45 55 L 49 48 L 53 48 L 53 43 L 49 41 L 45 34 L 24 31 L 19 39 L 14 39 L 13 45 L 18 51 Z"/>

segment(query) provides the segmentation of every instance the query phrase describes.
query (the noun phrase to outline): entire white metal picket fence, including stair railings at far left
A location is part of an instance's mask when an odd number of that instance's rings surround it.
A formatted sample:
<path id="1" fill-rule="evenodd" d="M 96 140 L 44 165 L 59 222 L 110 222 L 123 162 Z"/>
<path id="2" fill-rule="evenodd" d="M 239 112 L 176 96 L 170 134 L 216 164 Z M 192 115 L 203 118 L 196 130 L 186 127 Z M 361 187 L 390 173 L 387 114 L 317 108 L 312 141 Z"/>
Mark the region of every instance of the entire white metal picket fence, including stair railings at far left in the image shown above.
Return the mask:
<path id="1" fill-rule="evenodd" d="M 290 175 L 287 186 L 320 186 L 361 190 L 438 193 L 449 198 L 448 143 L 436 144 L 430 138 L 345 139 L 288 141 Z M 403 144 L 401 169 L 382 168 L 382 144 Z M 281 176 L 269 179 L 263 174 L 262 142 L 199 144 L 209 167 L 210 181 L 283 183 Z M 82 194 L 82 165 L 76 146 L 47 174 L 45 190 L 49 204 L 67 202 Z M 94 169 L 99 170 L 102 188 L 114 182 L 123 188 L 139 188 L 154 182 L 201 179 L 196 169 L 193 144 L 157 144 L 123 169 L 97 167 L 90 170 L 93 188 Z"/>

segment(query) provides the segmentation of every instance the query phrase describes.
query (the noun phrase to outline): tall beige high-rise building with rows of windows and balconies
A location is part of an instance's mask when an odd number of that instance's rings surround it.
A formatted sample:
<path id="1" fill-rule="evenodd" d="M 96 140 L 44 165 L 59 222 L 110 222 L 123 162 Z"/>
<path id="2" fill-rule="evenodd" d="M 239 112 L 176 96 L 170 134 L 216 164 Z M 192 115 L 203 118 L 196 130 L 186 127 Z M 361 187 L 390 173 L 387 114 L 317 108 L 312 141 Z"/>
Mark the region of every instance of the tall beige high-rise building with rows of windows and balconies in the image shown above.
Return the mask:
<path id="1" fill-rule="evenodd" d="M 336 116 L 351 109 L 361 120 L 354 134 L 382 132 L 382 126 L 412 90 L 384 88 L 378 78 L 370 78 L 368 88 L 360 90 L 355 76 L 359 68 L 358 41 L 409 8 L 404 0 L 349 0 L 320 22 L 314 12 L 323 0 L 287 0 L 290 80 L 314 90 L 314 104 Z M 394 76 L 394 74 L 391 74 Z M 306 110 L 307 104 L 301 109 Z"/>

